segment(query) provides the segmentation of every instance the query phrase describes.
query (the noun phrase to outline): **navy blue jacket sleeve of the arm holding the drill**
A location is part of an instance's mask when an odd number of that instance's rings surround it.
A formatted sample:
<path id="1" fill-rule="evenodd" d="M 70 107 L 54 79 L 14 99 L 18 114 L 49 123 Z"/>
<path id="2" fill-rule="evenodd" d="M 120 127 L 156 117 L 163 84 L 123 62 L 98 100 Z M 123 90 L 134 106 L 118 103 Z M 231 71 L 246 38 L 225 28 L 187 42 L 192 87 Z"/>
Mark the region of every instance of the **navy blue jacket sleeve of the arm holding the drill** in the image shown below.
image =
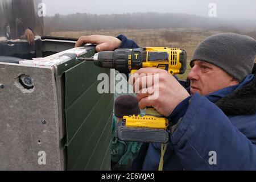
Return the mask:
<path id="1" fill-rule="evenodd" d="M 187 105 L 182 103 L 186 108 L 179 109 L 187 110 L 171 135 L 184 169 L 256 169 L 256 146 L 233 126 L 222 110 L 197 93 L 187 102 Z"/>

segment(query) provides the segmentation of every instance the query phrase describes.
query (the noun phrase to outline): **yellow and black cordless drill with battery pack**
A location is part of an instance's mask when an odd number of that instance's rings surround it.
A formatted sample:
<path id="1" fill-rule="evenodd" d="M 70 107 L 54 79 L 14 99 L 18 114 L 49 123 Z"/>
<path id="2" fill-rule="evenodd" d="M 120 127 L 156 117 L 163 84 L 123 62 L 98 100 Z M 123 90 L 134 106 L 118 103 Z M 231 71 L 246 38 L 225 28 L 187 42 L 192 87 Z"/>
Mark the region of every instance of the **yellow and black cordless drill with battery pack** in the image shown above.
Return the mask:
<path id="1" fill-rule="evenodd" d="M 116 49 L 98 52 L 92 58 L 78 58 L 94 61 L 102 68 L 113 68 L 121 73 L 134 73 L 141 68 L 165 69 L 170 74 L 183 74 L 187 68 L 187 55 L 183 49 L 168 47 L 146 47 Z M 119 140 L 167 143 L 168 120 L 154 108 L 147 107 L 146 115 L 127 115 L 117 123 L 116 135 Z"/>

